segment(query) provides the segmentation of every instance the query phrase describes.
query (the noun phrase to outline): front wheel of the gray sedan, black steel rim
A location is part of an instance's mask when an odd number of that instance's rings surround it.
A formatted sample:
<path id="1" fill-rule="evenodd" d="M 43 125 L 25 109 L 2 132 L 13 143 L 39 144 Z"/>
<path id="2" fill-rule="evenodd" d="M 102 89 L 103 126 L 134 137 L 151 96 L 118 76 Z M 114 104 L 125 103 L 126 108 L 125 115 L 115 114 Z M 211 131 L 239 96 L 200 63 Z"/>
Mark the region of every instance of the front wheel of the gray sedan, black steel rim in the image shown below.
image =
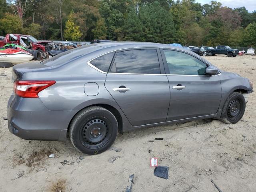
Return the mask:
<path id="1" fill-rule="evenodd" d="M 226 124 L 237 123 L 244 115 L 245 106 L 244 96 L 241 93 L 232 92 L 224 103 L 220 120 Z"/>

